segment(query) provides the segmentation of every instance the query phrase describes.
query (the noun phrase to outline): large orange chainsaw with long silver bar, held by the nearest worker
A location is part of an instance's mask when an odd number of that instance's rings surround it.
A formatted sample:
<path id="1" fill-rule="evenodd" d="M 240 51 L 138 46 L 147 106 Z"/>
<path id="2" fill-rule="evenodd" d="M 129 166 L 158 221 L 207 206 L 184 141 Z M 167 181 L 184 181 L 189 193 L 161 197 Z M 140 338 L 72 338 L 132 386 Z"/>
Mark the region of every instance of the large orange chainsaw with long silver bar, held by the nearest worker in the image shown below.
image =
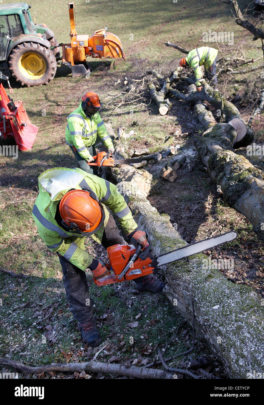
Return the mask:
<path id="1" fill-rule="evenodd" d="M 101 287 L 145 276 L 153 273 L 153 270 L 156 270 L 157 266 L 159 267 L 163 264 L 175 262 L 176 260 L 203 252 L 204 250 L 212 249 L 212 247 L 232 241 L 237 235 L 236 232 L 227 232 L 217 237 L 193 243 L 192 245 L 179 247 L 172 252 L 152 258 L 149 257 L 150 252 L 152 252 L 152 244 L 148 232 L 146 232 L 146 236 L 147 245 L 144 249 L 136 241 L 134 245 L 113 245 L 107 247 L 109 262 L 105 266 L 111 273 L 99 280 L 94 278 L 94 283 Z"/>

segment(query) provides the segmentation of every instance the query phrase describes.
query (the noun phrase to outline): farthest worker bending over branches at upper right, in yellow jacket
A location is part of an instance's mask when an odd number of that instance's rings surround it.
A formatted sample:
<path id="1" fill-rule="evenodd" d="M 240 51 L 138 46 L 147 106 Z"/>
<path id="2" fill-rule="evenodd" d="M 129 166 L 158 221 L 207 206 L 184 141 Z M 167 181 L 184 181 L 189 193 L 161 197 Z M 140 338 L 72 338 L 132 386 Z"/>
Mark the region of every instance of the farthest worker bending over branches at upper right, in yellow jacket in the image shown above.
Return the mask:
<path id="1" fill-rule="evenodd" d="M 202 84 L 200 81 L 203 79 L 203 75 L 200 66 L 204 65 L 206 70 L 206 77 L 212 81 L 217 89 L 217 77 L 216 74 L 216 61 L 217 61 L 217 49 L 210 47 L 200 47 L 193 49 L 188 53 L 185 58 L 180 60 L 180 66 L 182 68 L 191 67 L 194 70 L 196 78 L 196 89 L 198 92 L 202 90 Z"/>

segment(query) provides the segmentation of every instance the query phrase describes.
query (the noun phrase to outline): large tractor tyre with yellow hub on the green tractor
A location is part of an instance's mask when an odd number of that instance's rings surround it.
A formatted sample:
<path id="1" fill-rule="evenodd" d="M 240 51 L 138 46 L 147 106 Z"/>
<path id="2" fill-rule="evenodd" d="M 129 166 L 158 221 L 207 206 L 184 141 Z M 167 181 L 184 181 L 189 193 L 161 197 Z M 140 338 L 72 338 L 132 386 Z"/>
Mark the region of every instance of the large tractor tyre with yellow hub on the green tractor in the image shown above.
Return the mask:
<path id="1" fill-rule="evenodd" d="M 54 53 L 39 43 L 24 42 L 9 55 L 9 70 L 21 85 L 48 84 L 54 78 L 56 69 Z"/>

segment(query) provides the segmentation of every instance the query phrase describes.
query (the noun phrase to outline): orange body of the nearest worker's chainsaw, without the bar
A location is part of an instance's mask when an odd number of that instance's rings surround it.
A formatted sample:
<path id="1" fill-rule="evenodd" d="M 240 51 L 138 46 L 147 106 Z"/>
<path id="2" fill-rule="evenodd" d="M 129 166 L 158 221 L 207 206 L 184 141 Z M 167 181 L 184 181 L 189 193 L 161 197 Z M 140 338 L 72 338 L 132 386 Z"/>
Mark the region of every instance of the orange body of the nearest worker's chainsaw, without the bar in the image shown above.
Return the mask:
<path id="1" fill-rule="evenodd" d="M 129 267 L 127 273 L 119 280 L 118 276 L 129 262 L 130 258 L 135 253 L 136 249 L 133 245 L 113 245 L 107 247 L 107 256 L 109 263 L 106 264 L 107 269 L 112 271 L 112 274 L 103 277 L 99 280 L 94 278 L 94 283 L 101 287 L 106 284 L 113 284 L 120 281 L 133 280 L 138 277 L 153 273 L 154 267 L 151 266 L 152 259 L 147 257 L 145 260 L 137 258 L 133 266 Z"/>

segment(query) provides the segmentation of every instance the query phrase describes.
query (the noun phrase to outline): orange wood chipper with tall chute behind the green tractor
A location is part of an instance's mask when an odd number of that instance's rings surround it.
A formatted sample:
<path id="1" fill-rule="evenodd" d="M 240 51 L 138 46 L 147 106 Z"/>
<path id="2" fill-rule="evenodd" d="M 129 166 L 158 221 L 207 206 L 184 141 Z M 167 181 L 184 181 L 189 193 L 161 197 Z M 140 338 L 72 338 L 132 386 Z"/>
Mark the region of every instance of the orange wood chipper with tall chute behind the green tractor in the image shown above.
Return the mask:
<path id="1" fill-rule="evenodd" d="M 107 28 L 95 31 L 92 36 L 78 35 L 75 29 L 74 3 L 68 3 L 71 43 L 62 45 L 62 64 L 71 68 L 73 76 L 89 77 L 90 69 L 86 57 L 92 58 L 123 58 L 124 52 L 120 39 L 107 32 Z"/>

